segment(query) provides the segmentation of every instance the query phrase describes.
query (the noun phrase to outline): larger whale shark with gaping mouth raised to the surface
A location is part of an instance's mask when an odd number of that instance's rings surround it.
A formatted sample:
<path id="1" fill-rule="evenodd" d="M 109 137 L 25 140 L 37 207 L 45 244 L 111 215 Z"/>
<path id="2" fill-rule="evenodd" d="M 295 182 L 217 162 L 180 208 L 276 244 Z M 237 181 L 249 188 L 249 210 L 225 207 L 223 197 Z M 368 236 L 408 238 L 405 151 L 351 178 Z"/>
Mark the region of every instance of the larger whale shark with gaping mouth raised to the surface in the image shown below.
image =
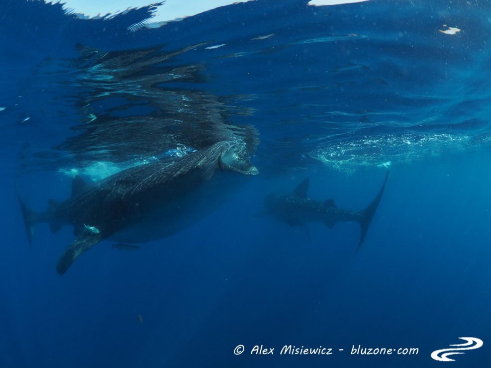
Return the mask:
<path id="1" fill-rule="evenodd" d="M 245 157 L 246 151 L 243 142 L 222 141 L 180 158 L 126 169 L 92 187 L 78 178 L 70 199 L 62 203 L 50 200 L 48 210 L 42 213 L 31 211 L 20 201 L 29 241 L 37 223 L 49 223 L 53 232 L 64 225 L 74 227 L 76 239 L 56 268 L 62 275 L 103 239 L 142 243 L 175 234 L 258 173 Z"/>

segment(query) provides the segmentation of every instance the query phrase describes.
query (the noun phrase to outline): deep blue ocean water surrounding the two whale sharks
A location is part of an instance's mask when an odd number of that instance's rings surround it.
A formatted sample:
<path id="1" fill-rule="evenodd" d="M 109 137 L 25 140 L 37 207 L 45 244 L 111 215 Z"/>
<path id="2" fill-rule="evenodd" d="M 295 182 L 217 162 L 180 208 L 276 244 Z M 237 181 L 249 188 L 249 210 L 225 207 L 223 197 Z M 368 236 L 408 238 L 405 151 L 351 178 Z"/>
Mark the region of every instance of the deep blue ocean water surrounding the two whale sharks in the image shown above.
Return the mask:
<path id="1" fill-rule="evenodd" d="M 0 10 L 1 367 L 489 366 L 489 1 L 257 0 L 152 29 L 133 26 L 152 6 Z M 217 121 L 257 129 L 259 175 L 196 224 L 134 252 L 104 240 L 63 276 L 71 227 L 36 225 L 29 245 L 17 192 L 45 210 L 76 175 L 203 149 Z M 356 223 L 256 216 L 304 178 L 361 210 L 387 168 L 358 252 Z M 430 358 L 465 336 L 483 348 Z"/>

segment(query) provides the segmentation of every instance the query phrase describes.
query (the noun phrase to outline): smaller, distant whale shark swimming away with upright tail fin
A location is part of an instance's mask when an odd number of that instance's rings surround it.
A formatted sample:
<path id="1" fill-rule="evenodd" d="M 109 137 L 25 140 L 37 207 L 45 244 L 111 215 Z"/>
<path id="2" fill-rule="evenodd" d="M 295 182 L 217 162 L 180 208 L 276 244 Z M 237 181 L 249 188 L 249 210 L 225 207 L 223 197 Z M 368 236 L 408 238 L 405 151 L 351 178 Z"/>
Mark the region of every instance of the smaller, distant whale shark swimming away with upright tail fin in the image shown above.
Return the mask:
<path id="1" fill-rule="evenodd" d="M 329 228 L 333 228 L 340 221 L 358 222 L 360 224 L 358 251 L 365 240 L 370 222 L 382 199 L 388 178 L 389 171 L 387 171 L 384 183 L 375 199 L 362 211 L 338 208 L 334 203 L 334 199 L 325 201 L 310 199 L 307 195 L 309 186 L 307 178 L 298 184 L 293 192 L 287 195 L 269 194 L 264 201 L 264 210 L 260 215 L 271 215 L 280 222 L 300 227 L 304 227 L 308 222 L 321 222 Z"/>

